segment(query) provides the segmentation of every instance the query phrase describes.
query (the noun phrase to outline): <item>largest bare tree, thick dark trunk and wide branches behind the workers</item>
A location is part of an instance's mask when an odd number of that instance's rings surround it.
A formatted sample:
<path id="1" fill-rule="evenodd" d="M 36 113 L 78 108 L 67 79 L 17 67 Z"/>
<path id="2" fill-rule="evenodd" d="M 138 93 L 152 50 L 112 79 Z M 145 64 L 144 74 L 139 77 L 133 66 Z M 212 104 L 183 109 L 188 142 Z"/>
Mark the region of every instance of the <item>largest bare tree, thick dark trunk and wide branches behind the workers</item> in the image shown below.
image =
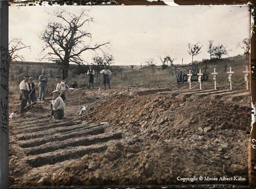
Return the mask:
<path id="1" fill-rule="evenodd" d="M 86 31 L 86 23 L 93 22 L 93 18 L 82 10 L 77 15 L 64 10 L 54 11 L 52 21 L 49 21 L 39 38 L 44 42 L 42 52 L 50 50 L 42 59 L 47 59 L 61 65 L 63 79 L 68 77 L 69 63 L 84 64 L 82 52 L 101 50 L 109 43 L 91 46 L 84 42 L 91 39 L 92 34 Z"/>

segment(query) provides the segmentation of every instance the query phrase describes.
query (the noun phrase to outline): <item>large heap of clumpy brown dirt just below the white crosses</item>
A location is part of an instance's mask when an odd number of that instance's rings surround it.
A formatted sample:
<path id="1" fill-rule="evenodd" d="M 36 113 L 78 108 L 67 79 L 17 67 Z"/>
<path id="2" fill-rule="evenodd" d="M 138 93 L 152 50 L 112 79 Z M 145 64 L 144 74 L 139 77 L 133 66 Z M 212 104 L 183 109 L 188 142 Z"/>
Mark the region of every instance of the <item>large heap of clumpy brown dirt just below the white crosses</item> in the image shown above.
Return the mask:
<path id="1" fill-rule="evenodd" d="M 94 111 L 91 122 L 108 121 L 116 129 L 134 133 L 143 130 L 147 135 L 158 134 L 160 139 L 187 137 L 211 130 L 245 130 L 244 125 L 248 125 L 250 119 L 250 110 L 246 106 L 184 95 L 116 95 L 95 107 Z"/>

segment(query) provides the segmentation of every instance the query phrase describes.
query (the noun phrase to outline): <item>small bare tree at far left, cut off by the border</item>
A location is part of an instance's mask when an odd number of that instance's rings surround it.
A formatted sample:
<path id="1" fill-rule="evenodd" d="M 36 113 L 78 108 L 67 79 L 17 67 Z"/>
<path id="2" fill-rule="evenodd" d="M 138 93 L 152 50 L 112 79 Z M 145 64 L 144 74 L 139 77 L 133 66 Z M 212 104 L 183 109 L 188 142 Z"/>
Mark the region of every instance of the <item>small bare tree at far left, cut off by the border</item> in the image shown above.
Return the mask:
<path id="1" fill-rule="evenodd" d="M 18 54 L 18 52 L 24 48 L 30 49 L 30 46 L 26 46 L 24 43 L 22 43 L 21 39 L 11 39 L 9 42 L 9 62 L 11 63 L 13 60 L 24 61 L 24 57 Z"/>

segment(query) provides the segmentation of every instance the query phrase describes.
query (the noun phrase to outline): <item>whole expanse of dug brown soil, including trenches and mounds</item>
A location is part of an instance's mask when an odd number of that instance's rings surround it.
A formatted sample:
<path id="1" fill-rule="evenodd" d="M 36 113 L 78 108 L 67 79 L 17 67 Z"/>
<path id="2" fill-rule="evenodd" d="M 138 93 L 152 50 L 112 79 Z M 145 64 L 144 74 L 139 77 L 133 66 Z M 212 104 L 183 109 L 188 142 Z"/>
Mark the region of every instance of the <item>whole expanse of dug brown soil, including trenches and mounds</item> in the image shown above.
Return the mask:
<path id="1" fill-rule="evenodd" d="M 140 91 L 130 95 L 124 87 L 67 91 L 62 121 L 49 121 L 49 101 L 40 101 L 10 119 L 10 185 L 248 184 L 249 93 L 244 84 L 235 91 L 210 85 L 135 86 Z M 65 123 L 103 97 L 83 113 L 93 114 Z M 9 103 L 11 113 L 18 97 Z M 61 134 L 105 121 L 109 127 Z M 178 176 L 246 181 L 184 183 Z"/>

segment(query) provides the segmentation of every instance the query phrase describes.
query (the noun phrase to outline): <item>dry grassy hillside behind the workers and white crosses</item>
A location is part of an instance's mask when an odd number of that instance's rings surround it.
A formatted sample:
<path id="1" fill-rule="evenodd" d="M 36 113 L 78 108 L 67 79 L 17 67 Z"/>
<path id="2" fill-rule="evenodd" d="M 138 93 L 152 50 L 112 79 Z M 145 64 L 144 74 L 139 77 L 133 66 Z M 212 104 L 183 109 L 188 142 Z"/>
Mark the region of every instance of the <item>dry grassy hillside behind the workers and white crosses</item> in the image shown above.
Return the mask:
<path id="1" fill-rule="evenodd" d="M 234 74 L 232 76 L 232 81 L 234 83 L 243 83 L 244 82 L 244 74 L 242 71 L 245 70 L 245 66 L 247 65 L 249 68 L 249 61 L 245 60 L 245 55 L 238 55 L 234 57 L 229 57 L 225 59 L 212 59 L 207 60 L 206 62 L 196 62 L 198 64 L 199 69 L 202 69 L 205 67 L 205 64 L 207 64 L 207 72 L 210 73 L 209 76 L 209 82 L 212 82 L 212 76 L 211 72 L 214 71 L 214 68 L 216 68 L 216 71 L 219 73 L 217 76 L 218 83 L 227 83 L 228 84 L 228 74 L 226 71 L 229 71 L 229 67 L 232 67 L 232 71 L 234 71 Z M 22 68 L 20 68 L 23 66 Z M 35 67 L 32 66 L 32 64 L 29 65 L 30 70 L 35 70 Z M 27 65 L 26 64 L 20 64 L 18 65 L 19 69 L 26 70 Z M 227 70 L 225 71 L 225 67 L 227 67 Z M 45 64 L 42 64 L 42 68 L 38 65 L 36 65 L 37 74 L 40 72 L 38 70 L 45 69 Z M 55 70 L 54 70 L 55 69 Z M 53 70 L 54 73 L 59 73 L 59 67 L 52 66 L 50 70 Z M 49 70 L 49 71 L 50 71 Z M 162 67 L 142 67 L 138 69 L 131 69 L 131 68 L 118 68 L 110 67 L 110 70 L 113 72 L 113 74 L 110 76 L 110 83 L 111 86 L 115 87 L 128 87 L 128 86 L 143 86 L 148 85 L 152 83 L 159 83 L 159 84 L 172 84 L 176 83 L 176 76 L 172 76 L 170 67 L 163 70 Z M 11 66 L 10 72 L 13 74 L 17 71 L 17 66 Z M 52 71 L 52 72 L 53 72 Z M 78 83 L 79 87 L 87 87 L 88 86 L 88 76 L 86 74 L 74 74 L 72 71 L 69 71 L 70 79 L 67 84 L 71 85 L 76 81 Z M 24 73 L 26 74 L 26 73 Z M 51 76 L 48 72 L 49 77 L 49 85 L 48 88 L 53 89 L 56 86 L 55 77 Z M 10 77 L 10 94 L 12 93 L 18 93 L 19 88 L 18 84 L 23 79 L 23 74 L 19 74 L 15 79 Z M 34 82 L 38 83 L 37 76 L 35 77 Z M 95 76 L 94 79 L 94 86 L 98 87 L 101 83 L 101 75 L 98 76 L 98 79 Z"/>

